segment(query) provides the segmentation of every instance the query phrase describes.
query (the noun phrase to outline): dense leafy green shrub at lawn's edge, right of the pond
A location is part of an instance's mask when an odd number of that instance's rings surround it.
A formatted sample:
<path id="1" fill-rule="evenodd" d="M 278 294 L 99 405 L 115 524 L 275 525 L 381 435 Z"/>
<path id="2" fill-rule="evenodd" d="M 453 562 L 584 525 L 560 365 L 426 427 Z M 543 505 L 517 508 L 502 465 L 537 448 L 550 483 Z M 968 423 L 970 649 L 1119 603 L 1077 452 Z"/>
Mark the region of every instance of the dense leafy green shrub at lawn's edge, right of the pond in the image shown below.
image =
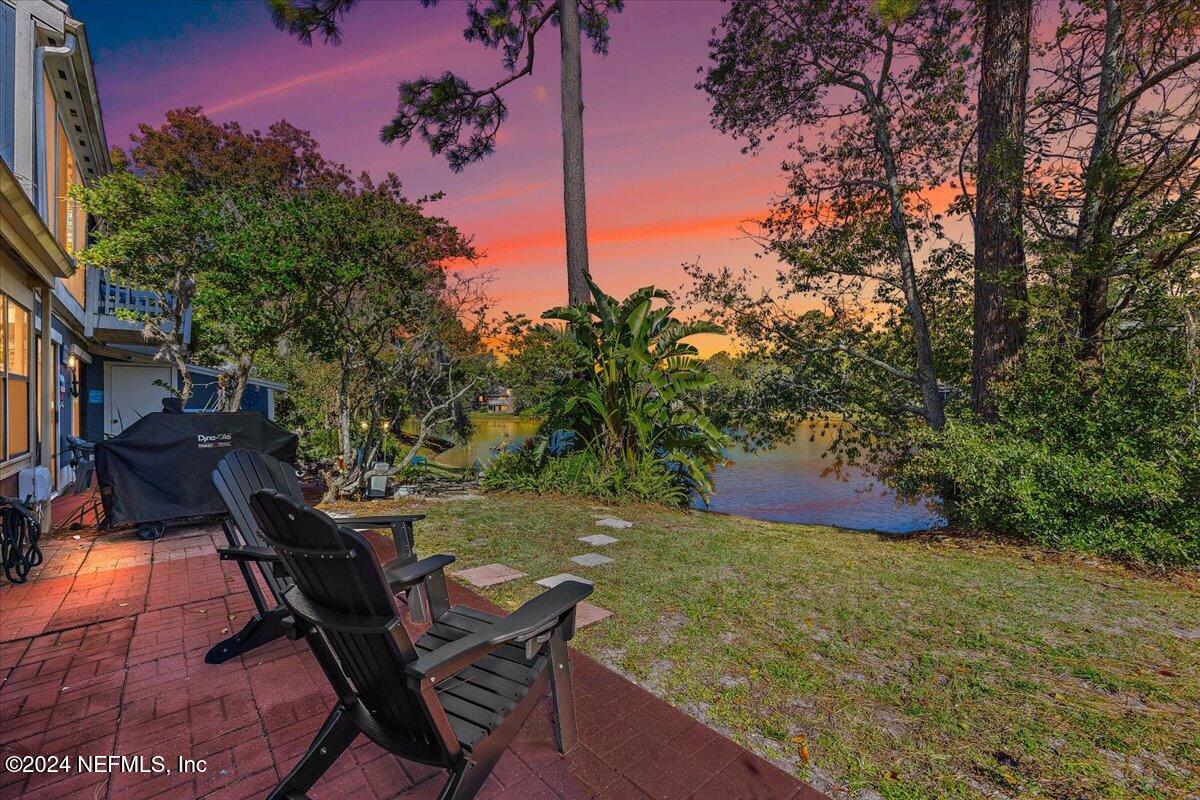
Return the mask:
<path id="1" fill-rule="evenodd" d="M 1136 351 L 1092 383 L 1031 359 L 1002 422 L 952 422 L 895 467 L 955 525 L 1156 565 L 1200 563 L 1200 428 L 1181 371 Z"/>

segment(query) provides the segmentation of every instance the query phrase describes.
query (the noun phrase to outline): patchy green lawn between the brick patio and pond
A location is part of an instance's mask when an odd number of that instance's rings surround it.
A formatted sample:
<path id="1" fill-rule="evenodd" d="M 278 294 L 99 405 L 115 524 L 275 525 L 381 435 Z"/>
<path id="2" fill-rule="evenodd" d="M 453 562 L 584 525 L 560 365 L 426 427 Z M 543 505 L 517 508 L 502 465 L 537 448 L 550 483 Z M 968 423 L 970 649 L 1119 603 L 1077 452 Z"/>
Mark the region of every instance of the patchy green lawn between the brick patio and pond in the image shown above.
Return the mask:
<path id="1" fill-rule="evenodd" d="M 419 507 L 421 553 L 527 572 L 502 606 L 593 578 L 614 616 L 578 648 L 836 798 L 1200 792 L 1194 573 L 649 506 L 610 531 L 560 498 L 346 507 Z M 614 564 L 568 560 L 593 533 Z"/>

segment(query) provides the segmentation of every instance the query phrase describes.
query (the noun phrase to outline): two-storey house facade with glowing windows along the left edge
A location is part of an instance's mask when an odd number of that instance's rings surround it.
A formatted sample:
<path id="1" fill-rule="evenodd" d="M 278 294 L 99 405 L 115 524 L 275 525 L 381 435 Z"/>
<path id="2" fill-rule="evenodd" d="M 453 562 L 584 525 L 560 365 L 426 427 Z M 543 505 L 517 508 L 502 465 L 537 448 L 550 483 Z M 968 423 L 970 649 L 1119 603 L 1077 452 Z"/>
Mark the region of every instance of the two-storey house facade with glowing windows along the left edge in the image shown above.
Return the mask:
<path id="1" fill-rule="evenodd" d="M 38 71 L 37 48 L 71 42 L 71 54 L 44 58 Z M 19 342 L 6 330 L 2 361 L 24 350 L 29 373 L 12 380 L 0 371 L 0 494 L 13 497 L 22 469 L 43 464 L 58 474 L 64 438 L 82 422 L 72 366 L 89 343 L 73 254 L 88 224 L 67 193 L 107 169 L 108 146 L 86 36 L 65 2 L 0 0 L 0 303 L 18 309 L 22 329 Z M 29 447 L 13 452 L 4 434 L 22 426 L 23 414 Z M 48 506 L 44 517 L 48 524 Z"/>

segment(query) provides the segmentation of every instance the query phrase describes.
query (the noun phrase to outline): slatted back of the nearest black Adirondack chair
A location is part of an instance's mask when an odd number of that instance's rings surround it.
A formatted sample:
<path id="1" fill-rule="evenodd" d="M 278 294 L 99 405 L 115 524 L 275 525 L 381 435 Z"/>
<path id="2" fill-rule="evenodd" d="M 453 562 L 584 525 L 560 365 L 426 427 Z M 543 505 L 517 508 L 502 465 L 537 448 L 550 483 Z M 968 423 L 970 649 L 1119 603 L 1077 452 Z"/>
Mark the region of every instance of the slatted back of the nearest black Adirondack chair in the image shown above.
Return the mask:
<path id="1" fill-rule="evenodd" d="M 430 708 L 404 680 L 404 667 L 416 658 L 416 650 L 362 535 L 338 528 L 320 511 L 271 489 L 254 492 L 250 506 L 268 546 L 280 554 L 292 577 L 294 585 L 284 602 L 293 612 L 304 616 L 304 608 L 311 607 L 362 621 L 354 630 L 319 621 L 317 626 L 364 706 L 392 735 L 410 738 L 414 750 L 456 751 L 457 741 L 446 741 L 434 722 L 444 722 L 445 712 L 440 706 Z M 443 729 L 449 729 L 448 724 Z"/>

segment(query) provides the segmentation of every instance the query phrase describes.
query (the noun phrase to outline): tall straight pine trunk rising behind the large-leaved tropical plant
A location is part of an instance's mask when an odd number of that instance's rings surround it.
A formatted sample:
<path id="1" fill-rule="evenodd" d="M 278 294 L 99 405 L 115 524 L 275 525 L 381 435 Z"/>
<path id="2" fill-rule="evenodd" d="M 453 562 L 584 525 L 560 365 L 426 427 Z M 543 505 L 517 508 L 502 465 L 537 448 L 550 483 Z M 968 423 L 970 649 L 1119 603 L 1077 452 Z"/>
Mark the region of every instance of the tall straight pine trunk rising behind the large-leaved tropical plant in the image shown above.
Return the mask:
<path id="1" fill-rule="evenodd" d="M 588 290 L 588 217 L 583 187 L 583 79 L 577 0 L 559 2 L 563 48 L 563 211 L 566 219 L 566 297 L 572 306 Z"/>

